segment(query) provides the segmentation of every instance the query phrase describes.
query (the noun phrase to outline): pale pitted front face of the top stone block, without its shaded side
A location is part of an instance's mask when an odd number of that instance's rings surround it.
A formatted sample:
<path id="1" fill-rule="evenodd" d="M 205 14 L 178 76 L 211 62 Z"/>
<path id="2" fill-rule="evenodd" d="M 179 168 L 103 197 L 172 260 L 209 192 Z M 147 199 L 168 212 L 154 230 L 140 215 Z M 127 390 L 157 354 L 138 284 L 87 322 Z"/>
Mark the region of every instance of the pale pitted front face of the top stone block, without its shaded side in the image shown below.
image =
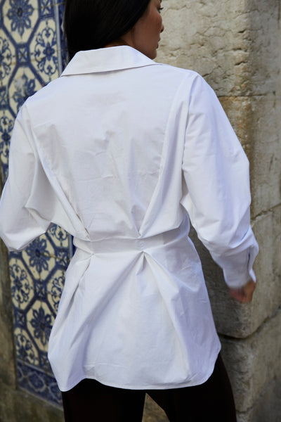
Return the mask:
<path id="1" fill-rule="evenodd" d="M 169 0 L 163 6 L 157 60 L 199 72 L 219 96 L 244 94 L 251 44 L 244 1 Z"/>

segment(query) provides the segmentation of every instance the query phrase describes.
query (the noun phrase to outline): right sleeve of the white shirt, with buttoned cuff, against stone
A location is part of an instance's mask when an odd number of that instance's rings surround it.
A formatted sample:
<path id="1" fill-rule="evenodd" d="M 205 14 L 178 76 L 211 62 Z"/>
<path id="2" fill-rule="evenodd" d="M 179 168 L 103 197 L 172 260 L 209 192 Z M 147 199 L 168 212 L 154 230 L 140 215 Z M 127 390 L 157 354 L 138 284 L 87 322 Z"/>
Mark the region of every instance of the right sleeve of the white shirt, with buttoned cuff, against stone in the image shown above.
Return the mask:
<path id="1" fill-rule="evenodd" d="M 249 162 L 216 94 L 199 75 L 190 93 L 181 203 L 228 286 L 256 281 Z"/>

